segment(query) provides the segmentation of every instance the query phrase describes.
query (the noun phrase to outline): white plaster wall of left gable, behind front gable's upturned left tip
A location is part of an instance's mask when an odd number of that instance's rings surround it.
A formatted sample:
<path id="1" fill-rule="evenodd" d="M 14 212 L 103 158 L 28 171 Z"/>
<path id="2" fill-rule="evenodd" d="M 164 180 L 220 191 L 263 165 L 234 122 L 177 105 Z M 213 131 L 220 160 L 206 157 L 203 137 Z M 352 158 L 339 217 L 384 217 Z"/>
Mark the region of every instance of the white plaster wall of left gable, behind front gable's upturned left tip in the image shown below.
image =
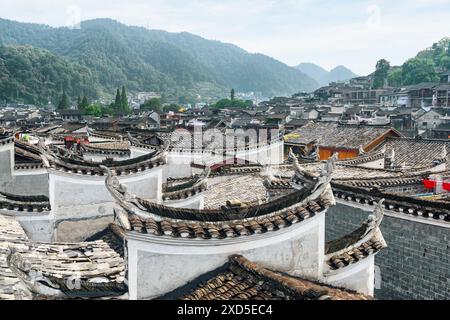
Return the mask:
<path id="1" fill-rule="evenodd" d="M 162 167 L 119 177 L 130 192 L 161 203 Z M 32 239 L 81 241 L 112 222 L 114 201 L 105 177 L 66 173 L 49 169 L 51 214 L 21 218 Z"/>

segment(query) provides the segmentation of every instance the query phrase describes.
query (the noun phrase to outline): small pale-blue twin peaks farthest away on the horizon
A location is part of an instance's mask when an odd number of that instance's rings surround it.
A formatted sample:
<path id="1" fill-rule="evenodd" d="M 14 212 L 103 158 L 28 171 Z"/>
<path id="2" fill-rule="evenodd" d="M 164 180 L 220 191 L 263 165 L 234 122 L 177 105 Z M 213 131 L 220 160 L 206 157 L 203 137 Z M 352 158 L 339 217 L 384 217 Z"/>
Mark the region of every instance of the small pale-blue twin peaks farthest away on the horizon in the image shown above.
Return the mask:
<path id="1" fill-rule="evenodd" d="M 321 86 L 357 77 L 355 73 L 344 66 L 337 66 L 331 71 L 327 71 L 314 63 L 301 63 L 296 68 L 316 80 Z"/>

